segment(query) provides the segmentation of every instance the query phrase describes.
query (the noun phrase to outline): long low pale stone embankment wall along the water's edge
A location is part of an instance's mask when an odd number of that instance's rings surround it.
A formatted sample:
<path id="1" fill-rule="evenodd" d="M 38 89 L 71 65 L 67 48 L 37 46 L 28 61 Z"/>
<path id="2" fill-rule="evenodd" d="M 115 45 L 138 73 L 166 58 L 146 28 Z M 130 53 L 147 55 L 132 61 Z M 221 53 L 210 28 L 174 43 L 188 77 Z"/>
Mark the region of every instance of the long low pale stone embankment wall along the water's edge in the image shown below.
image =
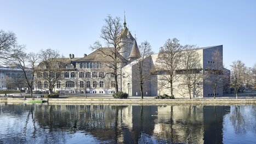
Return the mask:
<path id="1" fill-rule="evenodd" d="M 256 99 L 27 99 L 27 100 L 44 100 L 49 104 L 256 104 Z M 0 102 L 7 103 L 25 103 L 20 98 L 0 99 Z"/>

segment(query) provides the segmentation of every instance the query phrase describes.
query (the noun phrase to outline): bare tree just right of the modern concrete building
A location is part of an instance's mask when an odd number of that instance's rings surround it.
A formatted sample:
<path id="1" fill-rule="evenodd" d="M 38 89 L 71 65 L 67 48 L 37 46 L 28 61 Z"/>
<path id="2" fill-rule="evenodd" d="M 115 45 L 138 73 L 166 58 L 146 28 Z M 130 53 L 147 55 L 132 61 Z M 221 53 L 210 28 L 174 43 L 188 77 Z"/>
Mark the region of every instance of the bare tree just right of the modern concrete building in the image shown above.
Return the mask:
<path id="1" fill-rule="evenodd" d="M 246 66 L 240 60 L 232 62 L 231 66 L 231 86 L 236 91 L 236 99 L 237 99 L 237 92 L 243 85 L 243 76 L 244 71 L 246 70 Z"/>

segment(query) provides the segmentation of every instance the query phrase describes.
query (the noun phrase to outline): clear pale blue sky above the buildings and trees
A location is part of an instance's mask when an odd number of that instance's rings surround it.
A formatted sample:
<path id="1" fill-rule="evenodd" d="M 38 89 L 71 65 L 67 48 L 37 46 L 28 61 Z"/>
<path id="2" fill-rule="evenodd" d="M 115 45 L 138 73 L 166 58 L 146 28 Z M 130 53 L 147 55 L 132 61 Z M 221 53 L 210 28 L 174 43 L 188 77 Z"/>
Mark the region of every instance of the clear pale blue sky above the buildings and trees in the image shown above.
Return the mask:
<path id="1" fill-rule="evenodd" d="M 140 44 L 158 53 L 167 39 L 198 47 L 223 45 L 224 65 L 256 64 L 256 1 L 13 1 L 0 0 L 0 30 L 12 31 L 26 52 L 55 49 L 90 54 L 107 15 L 124 19 Z"/>

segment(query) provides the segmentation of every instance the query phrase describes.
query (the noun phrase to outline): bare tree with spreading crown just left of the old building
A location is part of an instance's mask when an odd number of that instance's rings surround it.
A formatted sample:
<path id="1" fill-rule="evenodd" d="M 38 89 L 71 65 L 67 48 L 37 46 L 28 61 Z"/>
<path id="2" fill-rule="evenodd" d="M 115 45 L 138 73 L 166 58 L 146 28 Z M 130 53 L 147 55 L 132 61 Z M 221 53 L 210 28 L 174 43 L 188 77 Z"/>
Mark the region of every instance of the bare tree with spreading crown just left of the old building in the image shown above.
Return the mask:
<path id="1" fill-rule="evenodd" d="M 30 89 L 30 96 L 33 96 L 32 88 L 34 77 L 36 73 L 36 67 L 38 65 L 38 54 L 36 53 L 25 53 L 21 51 L 18 55 L 10 59 L 10 65 L 18 66 L 23 73 L 27 87 Z"/>

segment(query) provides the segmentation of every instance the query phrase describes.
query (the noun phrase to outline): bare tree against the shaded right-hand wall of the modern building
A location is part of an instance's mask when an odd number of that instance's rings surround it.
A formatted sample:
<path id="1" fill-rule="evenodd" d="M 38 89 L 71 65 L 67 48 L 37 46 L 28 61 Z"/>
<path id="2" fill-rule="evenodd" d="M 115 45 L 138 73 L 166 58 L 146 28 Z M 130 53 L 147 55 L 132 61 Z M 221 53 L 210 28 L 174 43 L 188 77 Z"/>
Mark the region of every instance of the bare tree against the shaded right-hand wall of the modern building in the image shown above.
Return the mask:
<path id="1" fill-rule="evenodd" d="M 226 74 L 224 73 L 224 66 L 222 61 L 222 55 L 219 49 L 214 50 L 212 53 L 212 61 L 208 62 L 208 67 L 204 73 L 204 79 L 213 88 L 213 97 L 216 97 L 216 91 L 224 87 L 224 80 Z"/>

